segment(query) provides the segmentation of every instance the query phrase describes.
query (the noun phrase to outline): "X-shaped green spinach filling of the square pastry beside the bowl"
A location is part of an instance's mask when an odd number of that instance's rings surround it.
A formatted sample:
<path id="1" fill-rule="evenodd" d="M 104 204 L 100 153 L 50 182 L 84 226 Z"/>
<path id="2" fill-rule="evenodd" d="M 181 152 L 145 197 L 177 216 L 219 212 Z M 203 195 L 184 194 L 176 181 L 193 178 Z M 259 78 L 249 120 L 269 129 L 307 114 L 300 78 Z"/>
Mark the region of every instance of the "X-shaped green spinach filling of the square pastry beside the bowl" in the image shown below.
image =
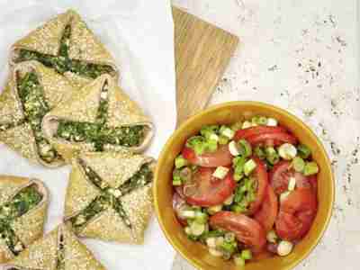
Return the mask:
<path id="1" fill-rule="evenodd" d="M 93 202 L 90 202 L 83 211 L 80 211 L 70 219 L 73 228 L 77 232 L 81 231 L 89 220 L 109 207 L 112 207 L 112 209 L 119 214 L 128 228 L 131 228 L 130 219 L 121 203 L 121 196 L 152 182 L 153 173 L 148 164 L 141 166 L 135 175 L 132 175 L 130 179 L 124 184 L 121 184 L 119 188 L 114 189 L 104 182 L 90 166 L 86 166 L 83 160 L 79 159 L 79 163 L 84 168 L 87 179 L 97 186 L 102 193 L 97 196 Z"/>

